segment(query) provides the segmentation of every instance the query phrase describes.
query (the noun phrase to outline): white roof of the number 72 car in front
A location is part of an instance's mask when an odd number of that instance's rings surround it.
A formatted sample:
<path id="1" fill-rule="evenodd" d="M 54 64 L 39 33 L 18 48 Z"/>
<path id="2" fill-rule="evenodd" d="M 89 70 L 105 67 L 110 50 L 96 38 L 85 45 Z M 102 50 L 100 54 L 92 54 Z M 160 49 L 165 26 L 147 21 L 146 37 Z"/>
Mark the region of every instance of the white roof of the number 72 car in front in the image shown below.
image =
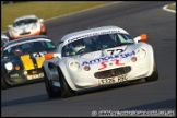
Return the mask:
<path id="1" fill-rule="evenodd" d="M 125 34 L 129 34 L 128 32 L 126 32 L 123 28 L 120 28 L 118 26 L 101 26 L 101 27 L 94 27 L 94 28 L 90 28 L 90 30 L 83 30 L 83 31 L 79 31 L 79 32 L 73 32 L 73 33 L 69 33 L 67 35 L 64 35 L 61 38 L 61 42 L 68 40 L 68 39 L 72 39 L 72 38 L 79 38 L 79 37 L 84 37 L 86 35 L 94 35 L 97 33 L 103 33 L 103 32 L 110 32 L 110 31 L 118 31 L 119 33 L 125 33 Z"/>

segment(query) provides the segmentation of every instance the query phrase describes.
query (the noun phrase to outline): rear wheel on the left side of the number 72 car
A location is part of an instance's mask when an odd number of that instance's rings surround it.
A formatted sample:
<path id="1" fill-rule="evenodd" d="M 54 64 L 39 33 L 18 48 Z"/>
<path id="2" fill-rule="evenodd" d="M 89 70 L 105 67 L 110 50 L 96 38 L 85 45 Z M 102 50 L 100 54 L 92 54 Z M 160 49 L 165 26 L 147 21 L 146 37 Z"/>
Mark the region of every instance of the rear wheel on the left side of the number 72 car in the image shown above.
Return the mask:
<path id="1" fill-rule="evenodd" d="M 44 68 L 43 68 L 43 70 L 44 70 Z M 60 88 L 58 88 L 58 90 L 52 88 L 52 86 L 51 86 L 45 71 L 44 71 L 44 79 L 45 79 L 45 86 L 46 86 L 48 97 L 54 98 L 54 97 L 60 96 L 61 95 L 61 90 Z"/>

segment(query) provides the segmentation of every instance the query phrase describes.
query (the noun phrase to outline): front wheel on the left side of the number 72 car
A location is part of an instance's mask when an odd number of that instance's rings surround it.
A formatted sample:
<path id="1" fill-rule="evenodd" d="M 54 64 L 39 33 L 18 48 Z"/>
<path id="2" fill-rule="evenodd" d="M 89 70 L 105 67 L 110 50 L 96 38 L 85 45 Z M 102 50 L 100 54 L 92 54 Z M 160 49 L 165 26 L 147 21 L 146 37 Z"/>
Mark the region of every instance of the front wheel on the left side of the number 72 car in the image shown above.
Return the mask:
<path id="1" fill-rule="evenodd" d="M 61 84 L 61 97 L 71 97 L 75 95 L 75 92 L 70 88 L 63 74 L 60 74 L 60 84 Z"/>

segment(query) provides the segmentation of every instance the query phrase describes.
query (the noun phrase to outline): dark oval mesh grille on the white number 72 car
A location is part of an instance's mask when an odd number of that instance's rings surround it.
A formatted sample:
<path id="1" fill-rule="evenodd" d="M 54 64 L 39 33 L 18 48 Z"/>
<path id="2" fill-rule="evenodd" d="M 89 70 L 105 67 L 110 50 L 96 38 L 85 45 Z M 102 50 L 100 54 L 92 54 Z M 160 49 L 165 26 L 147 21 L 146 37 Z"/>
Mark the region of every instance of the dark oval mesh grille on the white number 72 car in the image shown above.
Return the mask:
<path id="1" fill-rule="evenodd" d="M 102 72 L 96 72 L 94 75 L 97 79 L 105 79 L 105 78 L 111 78 L 111 76 L 118 76 L 121 74 L 126 74 L 131 71 L 131 67 L 122 67 L 111 70 L 106 70 Z"/>

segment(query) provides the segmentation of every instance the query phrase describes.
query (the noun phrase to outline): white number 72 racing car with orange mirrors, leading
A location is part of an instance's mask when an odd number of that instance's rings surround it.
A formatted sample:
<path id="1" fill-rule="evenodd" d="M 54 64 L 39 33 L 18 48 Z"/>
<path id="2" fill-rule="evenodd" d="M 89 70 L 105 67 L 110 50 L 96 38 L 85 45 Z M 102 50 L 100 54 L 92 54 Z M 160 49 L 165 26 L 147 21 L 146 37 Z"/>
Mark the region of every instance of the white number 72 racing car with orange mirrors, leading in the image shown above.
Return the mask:
<path id="1" fill-rule="evenodd" d="M 43 63 L 48 96 L 70 97 L 91 87 L 141 79 L 157 81 L 154 50 L 143 42 L 146 38 L 146 34 L 132 38 L 117 26 L 64 35 L 57 52 L 47 54 Z"/>

